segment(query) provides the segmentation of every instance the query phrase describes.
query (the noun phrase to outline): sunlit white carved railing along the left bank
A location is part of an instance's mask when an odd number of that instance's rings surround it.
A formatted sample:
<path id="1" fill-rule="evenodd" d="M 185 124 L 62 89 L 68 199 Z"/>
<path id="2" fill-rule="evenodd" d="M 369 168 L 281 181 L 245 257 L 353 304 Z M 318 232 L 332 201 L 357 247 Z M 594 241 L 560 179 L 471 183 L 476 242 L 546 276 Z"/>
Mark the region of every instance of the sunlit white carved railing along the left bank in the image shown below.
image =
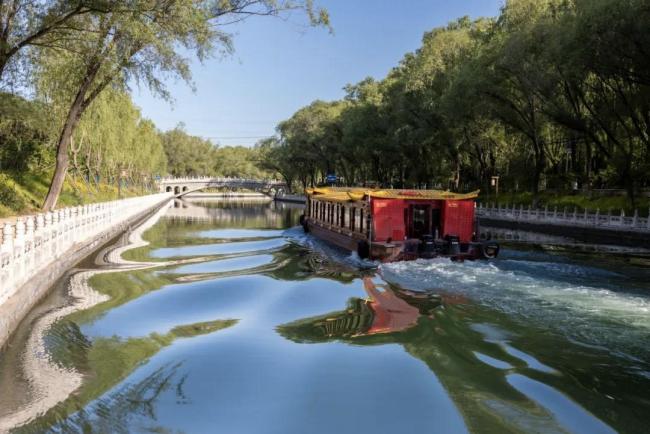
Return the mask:
<path id="1" fill-rule="evenodd" d="M 171 198 L 170 193 L 96 203 L 19 217 L 2 226 L 0 305 L 76 243 Z"/>

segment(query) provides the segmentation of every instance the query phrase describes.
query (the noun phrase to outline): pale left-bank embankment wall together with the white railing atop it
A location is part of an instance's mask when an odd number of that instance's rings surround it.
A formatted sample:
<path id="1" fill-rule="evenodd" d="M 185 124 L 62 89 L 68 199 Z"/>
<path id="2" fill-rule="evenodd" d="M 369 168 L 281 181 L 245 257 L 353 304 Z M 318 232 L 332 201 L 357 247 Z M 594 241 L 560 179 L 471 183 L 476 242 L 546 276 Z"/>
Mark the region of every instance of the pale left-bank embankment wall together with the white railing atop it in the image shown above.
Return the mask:
<path id="1" fill-rule="evenodd" d="M 5 226 L 0 249 L 0 349 L 68 269 L 170 198 L 158 194 L 87 205 Z"/>

